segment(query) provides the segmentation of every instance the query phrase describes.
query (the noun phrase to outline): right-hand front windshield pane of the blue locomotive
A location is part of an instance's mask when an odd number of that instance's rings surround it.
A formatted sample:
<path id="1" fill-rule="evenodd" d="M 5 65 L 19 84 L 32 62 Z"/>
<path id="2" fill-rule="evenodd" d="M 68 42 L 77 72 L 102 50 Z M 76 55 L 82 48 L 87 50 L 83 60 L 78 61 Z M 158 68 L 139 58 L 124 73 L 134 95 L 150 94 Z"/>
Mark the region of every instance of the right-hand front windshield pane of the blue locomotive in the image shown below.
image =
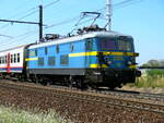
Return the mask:
<path id="1" fill-rule="evenodd" d="M 118 49 L 122 51 L 131 51 L 132 50 L 132 38 L 128 38 L 126 36 L 120 36 L 118 38 Z"/>

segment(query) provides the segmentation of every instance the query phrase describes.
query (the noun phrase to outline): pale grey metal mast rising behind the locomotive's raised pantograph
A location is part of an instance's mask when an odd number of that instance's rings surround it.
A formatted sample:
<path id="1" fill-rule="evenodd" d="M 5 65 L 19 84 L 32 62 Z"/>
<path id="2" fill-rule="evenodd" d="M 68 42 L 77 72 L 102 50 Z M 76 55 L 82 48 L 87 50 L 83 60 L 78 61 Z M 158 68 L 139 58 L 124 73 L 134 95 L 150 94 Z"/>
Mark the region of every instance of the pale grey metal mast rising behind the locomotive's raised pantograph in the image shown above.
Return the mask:
<path id="1" fill-rule="evenodd" d="M 107 20 L 107 30 L 112 30 L 112 0 L 106 0 L 106 20 Z"/>

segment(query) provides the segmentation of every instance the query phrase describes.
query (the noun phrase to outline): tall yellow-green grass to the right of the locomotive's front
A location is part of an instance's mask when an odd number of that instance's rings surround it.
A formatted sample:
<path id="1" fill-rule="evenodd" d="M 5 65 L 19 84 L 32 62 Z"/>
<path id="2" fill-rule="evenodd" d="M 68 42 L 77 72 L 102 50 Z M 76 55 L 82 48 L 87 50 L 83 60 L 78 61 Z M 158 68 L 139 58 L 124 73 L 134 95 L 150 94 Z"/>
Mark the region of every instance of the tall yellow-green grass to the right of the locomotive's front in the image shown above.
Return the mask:
<path id="1" fill-rule="evenodd" d="M 137 78 L 131 86 L 137 87 L 164 87 L 164 71 L 163 70 L 147 70 L 141 77 Z"/>

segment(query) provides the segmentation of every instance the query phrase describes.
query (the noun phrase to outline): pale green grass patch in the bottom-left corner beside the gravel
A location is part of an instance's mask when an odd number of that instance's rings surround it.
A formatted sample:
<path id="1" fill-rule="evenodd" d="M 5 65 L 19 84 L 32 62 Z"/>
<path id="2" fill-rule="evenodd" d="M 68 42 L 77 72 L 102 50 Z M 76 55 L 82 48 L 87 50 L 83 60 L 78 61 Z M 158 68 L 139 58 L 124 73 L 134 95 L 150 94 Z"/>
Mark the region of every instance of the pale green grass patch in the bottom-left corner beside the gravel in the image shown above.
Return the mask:
<path id="1" fill-rule="evenodd" d="M 70 123 L 61 119 L 55 111 L 33 113 L 15 108 L 0 106 L 0 123 Z"/>

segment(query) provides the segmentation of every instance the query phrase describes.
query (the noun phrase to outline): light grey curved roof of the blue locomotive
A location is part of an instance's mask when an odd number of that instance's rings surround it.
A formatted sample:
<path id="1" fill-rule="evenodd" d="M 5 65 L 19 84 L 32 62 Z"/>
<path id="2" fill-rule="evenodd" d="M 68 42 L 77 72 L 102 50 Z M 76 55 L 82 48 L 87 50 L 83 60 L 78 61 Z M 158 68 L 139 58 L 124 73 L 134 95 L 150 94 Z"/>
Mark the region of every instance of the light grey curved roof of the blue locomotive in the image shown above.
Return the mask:
<path id="1" fill-rule="evenodd" d="M 117 36 L 131 37 L 130 35 L 124 35 L 124 34 L 120 34 L 117 32 L 94 32 L 94 33 L 87 33 L 87 34 L 83 34 L 83 35 L 67 37 L 67 38 L 54 39 L 54 40 L 47 41 L 47 42 L 39 42 L 37 45 L 30 46 L 28 49 L 38 48 L 38 47 L 46 47 L 46 46 L 56 45 L 56 44 L 72 42 L 72 41 L 82 40 L 82 39 L 92 38 L 92 37 L 109 37 L 109 36 L 110 37 L 117 37 Z"/>

